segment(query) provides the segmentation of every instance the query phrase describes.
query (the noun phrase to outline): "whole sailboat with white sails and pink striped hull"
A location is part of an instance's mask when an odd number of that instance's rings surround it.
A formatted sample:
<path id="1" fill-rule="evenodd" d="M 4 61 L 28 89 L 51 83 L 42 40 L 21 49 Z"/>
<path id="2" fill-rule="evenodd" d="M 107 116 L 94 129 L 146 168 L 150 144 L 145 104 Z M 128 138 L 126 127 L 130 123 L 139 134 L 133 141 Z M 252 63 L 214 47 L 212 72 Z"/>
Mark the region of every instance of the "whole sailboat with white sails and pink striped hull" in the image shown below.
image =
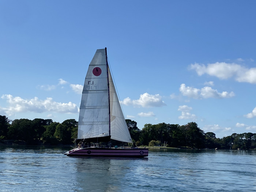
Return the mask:
<path id="1" fill-rule="evenodd" d="M 86 74 L 77 140 L 82 146 L 79 144 L 67 151 L 67 156 L 148 156 L 148 148 L 111 146 L 111 141 L 133 142 L 110 74 L 106 48 L 97 49 Z M 101 147 L 101 142 L 109 142 L 110 145 Z"/>

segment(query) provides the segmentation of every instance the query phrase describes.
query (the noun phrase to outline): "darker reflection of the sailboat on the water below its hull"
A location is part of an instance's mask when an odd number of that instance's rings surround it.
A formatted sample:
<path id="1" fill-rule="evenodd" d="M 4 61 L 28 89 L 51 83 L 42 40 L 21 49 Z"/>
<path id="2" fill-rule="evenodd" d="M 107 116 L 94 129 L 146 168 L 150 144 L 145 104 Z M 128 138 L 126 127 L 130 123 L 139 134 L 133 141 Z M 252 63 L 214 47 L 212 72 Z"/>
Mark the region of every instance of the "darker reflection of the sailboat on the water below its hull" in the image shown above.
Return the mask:
<path id="1" fill-rule="evenodd" d="M 136 162 L 148 158 L 115 158 L 115 157 L 72 157 L 77 159 L 75 165 L 79 177 L 79 188 L 98 191 L 122 191 L 127 184 L 127 172 L 133 172 Z M 133 178 L 135 179 L 135 178 Z"/>

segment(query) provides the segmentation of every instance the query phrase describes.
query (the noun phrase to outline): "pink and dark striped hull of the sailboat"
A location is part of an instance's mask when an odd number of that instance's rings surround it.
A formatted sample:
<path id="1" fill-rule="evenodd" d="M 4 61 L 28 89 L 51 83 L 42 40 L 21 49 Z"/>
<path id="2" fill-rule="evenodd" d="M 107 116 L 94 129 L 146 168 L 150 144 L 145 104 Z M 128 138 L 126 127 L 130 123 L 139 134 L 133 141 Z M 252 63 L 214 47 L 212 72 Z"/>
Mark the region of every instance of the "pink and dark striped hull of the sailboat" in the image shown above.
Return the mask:
<path id="1" fill-rule="evenodd" d="M 83 148 L 68 151 L 67 156 L 91 157 L 147 157 L 148 148 Z"/>

